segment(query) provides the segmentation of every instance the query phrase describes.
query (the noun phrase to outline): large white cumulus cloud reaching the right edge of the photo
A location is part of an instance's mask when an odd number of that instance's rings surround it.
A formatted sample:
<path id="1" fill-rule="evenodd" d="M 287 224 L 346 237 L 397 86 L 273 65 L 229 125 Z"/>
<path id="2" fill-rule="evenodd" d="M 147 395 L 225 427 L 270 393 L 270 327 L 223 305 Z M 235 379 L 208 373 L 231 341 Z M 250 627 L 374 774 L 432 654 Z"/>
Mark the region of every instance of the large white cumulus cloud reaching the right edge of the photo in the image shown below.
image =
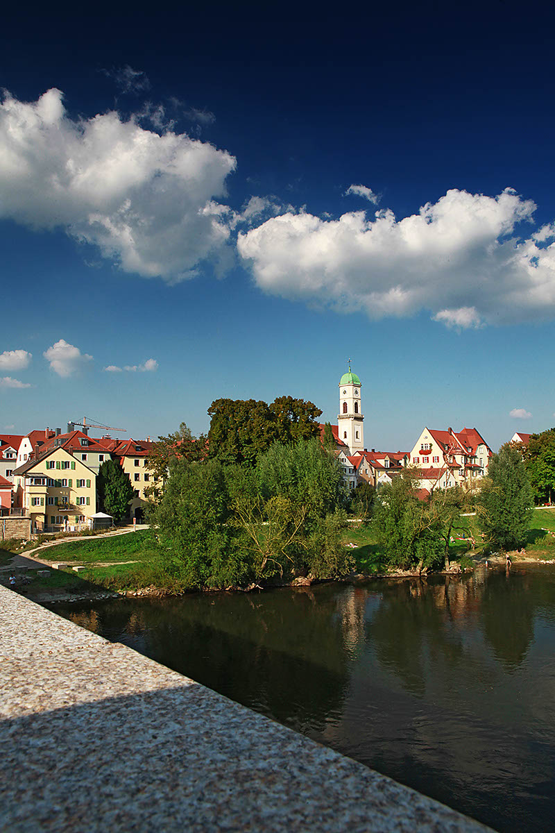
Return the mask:
<path id="1" fill-rule="evenodd" d="M 270 217 L 239 234 L 238 250 L 265 292 L 404 317 L 428 310 L 449 327 L 555 317 L 555 227 L 521 237 L 535 205 L 453 189 L 417 214 L 349 212 Z"/>

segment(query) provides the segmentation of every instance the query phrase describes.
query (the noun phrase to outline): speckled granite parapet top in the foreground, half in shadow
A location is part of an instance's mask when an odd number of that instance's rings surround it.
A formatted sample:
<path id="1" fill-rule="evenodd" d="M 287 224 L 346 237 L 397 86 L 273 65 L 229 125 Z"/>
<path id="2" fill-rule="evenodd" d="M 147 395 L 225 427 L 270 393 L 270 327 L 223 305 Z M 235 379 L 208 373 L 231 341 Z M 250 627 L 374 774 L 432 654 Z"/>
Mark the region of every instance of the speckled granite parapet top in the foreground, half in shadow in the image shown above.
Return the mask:
<path id="1" fill-rule="evenodd" d="M 486 831 L 0 587 L 0 830 Z"/>

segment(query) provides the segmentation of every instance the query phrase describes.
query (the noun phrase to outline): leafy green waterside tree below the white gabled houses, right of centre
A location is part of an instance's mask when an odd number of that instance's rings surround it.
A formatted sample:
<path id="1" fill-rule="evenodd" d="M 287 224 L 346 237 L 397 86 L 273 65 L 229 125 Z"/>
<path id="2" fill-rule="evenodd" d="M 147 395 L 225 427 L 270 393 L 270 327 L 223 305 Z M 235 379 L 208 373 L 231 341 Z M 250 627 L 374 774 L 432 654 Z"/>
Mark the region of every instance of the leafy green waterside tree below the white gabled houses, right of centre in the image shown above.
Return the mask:
<path id="1" fill-rule="evenodd" d="M 441 520 L 429 501 L 419 501 L 417 485 L 411 471 L 402 471 L 374 504 L 380 551 L 388 566 L 403 570 L 439 566 L 444 557 Z"/>

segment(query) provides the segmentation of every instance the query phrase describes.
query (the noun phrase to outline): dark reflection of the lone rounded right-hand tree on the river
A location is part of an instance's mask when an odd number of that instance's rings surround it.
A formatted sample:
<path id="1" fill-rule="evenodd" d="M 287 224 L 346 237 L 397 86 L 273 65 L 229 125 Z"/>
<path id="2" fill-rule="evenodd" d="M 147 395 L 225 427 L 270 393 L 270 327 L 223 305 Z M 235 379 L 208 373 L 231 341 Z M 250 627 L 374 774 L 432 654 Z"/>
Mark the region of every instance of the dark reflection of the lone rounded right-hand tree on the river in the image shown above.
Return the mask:
<path id="1" fill-rule="evenodd" d="M 488 576 L 483 593 L 483 635 L 508 671 L 519 666 L 533 640 L 536 595 L 530 577 L 513 571 Z"/>

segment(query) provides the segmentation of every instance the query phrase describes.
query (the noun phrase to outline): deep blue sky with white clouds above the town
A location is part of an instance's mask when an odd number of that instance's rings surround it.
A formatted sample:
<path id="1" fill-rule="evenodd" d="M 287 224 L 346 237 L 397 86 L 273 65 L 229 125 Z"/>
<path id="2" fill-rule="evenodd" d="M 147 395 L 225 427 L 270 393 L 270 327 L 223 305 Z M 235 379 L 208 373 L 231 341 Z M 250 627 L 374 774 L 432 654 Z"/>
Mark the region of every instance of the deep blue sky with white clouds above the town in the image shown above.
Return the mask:
<path id="1" fill-rule="evenodd" d="M 547 3 L 95 8 L 4 20 L 0 431 L 555 424 Z"/>

